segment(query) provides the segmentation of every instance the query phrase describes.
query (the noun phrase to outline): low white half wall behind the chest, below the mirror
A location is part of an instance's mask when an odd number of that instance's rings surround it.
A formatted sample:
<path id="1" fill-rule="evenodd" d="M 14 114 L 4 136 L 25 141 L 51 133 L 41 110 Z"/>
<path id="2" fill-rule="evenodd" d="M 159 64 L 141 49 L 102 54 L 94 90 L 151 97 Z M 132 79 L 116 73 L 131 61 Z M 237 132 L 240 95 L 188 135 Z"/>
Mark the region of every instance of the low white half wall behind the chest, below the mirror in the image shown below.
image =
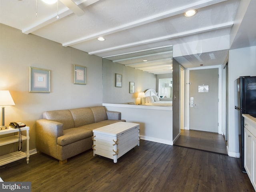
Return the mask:
<path id="1" fill-rule="evenodd" d="M 141 139 L 173 145 L 172 107 L 106 103 L 103 106 L 121 112 L 126 122 L 139 123 Z"/>

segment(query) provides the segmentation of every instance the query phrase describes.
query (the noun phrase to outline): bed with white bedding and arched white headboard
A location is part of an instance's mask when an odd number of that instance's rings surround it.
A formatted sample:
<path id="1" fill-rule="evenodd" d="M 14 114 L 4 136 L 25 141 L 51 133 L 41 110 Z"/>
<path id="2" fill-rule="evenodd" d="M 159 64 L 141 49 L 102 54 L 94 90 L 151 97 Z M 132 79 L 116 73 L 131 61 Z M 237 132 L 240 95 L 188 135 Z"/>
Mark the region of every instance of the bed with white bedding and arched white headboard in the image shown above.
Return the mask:
<path id="1" fill-rule="evenodd" d="M 154 89 L 148 89 L 144 92 L 145 104 L 150 106 L 172 106 L 172 101 L 160 101 L 157 92 Z"/>

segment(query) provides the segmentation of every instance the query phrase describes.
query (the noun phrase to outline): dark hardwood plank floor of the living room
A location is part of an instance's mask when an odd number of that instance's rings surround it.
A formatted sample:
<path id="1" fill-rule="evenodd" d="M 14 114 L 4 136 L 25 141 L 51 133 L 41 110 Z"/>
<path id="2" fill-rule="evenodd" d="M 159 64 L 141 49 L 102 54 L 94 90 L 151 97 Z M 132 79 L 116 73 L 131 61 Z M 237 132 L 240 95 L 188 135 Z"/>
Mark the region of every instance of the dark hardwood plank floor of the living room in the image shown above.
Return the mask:
<path id="1" fill-rule="evenodd" d="M 236 158 L 141 140 L 114 163 L 88 150 L 66 164 L 35 154 L 0 167 L 4 181 L 30 181 L 32 192 L 253 192 Z"/>

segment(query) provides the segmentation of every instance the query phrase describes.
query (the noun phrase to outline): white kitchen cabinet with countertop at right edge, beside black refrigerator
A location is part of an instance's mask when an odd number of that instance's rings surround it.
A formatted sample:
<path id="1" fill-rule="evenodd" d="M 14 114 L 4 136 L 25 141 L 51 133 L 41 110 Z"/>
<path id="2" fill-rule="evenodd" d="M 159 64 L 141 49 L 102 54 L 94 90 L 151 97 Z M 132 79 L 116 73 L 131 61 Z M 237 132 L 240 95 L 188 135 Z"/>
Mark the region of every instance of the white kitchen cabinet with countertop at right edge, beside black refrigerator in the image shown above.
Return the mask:
<path id="1" fill-rule="evenodd" d="M 256 118 L 249 114 L 244 117 L 244 168 L 256 190 Z"/>

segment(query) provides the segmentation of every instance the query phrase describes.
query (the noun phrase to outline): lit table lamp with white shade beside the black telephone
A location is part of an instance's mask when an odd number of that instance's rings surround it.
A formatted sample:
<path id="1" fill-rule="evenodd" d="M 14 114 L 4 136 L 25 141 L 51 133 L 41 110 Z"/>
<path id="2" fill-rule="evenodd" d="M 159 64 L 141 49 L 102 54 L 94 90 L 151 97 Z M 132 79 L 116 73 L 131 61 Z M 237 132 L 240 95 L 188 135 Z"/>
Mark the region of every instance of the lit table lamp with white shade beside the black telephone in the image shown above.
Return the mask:
<path id="1" fill-rule="evenodd" d="M 0 130 L 7 128 L 4 126 L 4 108 L 10 105 L 15 105 L 10 92 L 8 90 L 0 90 L 0 106 L 2 107 L 2 126 L 0 126 Z"/>

